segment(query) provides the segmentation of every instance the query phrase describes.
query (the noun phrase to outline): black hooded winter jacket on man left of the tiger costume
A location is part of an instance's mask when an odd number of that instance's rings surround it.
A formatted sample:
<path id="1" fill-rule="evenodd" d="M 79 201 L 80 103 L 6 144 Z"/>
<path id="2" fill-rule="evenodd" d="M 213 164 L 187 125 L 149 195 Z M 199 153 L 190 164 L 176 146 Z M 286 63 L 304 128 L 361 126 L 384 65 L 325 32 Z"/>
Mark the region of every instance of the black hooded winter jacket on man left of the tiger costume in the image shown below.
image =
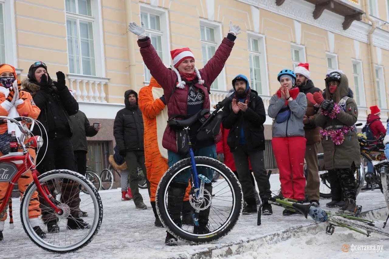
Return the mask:
<path id="1" fill-rule="evenodd" d="M 142 112 L 138 105 L 130 105 L 128 101 L 130 94 L 135 94 L 138 104 L 138 94 L 133 90 L 127 90 L 124 93 L 126 108 L 117 112 L 114 122 L 114 137 L 119 152 L 144 150 Z"/>

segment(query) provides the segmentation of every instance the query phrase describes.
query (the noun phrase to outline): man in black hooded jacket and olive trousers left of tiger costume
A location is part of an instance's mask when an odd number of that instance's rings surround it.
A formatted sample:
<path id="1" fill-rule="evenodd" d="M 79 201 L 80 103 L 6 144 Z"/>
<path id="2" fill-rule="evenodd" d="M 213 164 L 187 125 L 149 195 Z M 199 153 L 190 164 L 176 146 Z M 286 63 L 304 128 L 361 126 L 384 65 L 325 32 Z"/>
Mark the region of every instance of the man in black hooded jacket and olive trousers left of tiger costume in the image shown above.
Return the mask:
<path id="1" fill-rule="evenodd" d="M 119 110 L 114 121 L 114 137 L 119 154 L 126 159 L 130 171 L 130 189 L 135 207 L 145 210 L 142 195 L 138 188 L 138 163 L 143 170 L 150 194 L 150 183 L 147 180 L 145 154 L 143 145 L 143 119 L 138 107 L 138 94 L 134 90 L 124 93 L 125 108 Z"/>

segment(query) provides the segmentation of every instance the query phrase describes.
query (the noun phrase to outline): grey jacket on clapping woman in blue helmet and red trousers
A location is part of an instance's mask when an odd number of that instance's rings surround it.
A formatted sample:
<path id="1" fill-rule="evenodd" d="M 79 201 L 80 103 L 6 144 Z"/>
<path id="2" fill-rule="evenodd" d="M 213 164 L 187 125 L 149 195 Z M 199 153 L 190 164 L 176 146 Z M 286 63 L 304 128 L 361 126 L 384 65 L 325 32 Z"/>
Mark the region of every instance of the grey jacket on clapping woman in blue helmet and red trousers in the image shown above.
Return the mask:
<path id="1" fill-rule="evenodd" d="M 277 94 L 274 94 L 270 99 L 268 108 L 269 117 L 277 117 L 278 112 L 284 105 L 285 99 L 281 99 Z M 291 110 L 289 119 L 282 123 L 273 121 L 273 138 L 305 136 L 303 118 L 307 110 L 307 96 L 304 93 L 299 93 L 295 100 L 289 101 L 289 108 Z"/>

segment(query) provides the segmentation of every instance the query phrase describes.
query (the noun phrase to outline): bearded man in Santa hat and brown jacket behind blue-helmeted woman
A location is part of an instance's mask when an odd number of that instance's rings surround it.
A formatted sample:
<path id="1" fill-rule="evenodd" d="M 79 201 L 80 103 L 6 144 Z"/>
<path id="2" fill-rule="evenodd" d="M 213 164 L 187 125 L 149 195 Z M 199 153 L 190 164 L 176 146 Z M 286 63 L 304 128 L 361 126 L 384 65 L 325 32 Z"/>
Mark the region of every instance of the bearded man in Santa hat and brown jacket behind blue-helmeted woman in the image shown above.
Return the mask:
<path id="1" fill-rule="evenodd" d="M 319 207 L 319 170 L 317 168 L 317 152 L 319 143 L 321 141 L 320 128 L 314 123 L 314 119 L 319 110 L 318 107 L 314 106 L 310 100 L 314 93 L 320 93 L 321 90 L 314 86 L 312 80 L 309 79 L 309 64 L 300 63 L 294 69 L 296 74 L 296 86 L 300 89 L 300 93 L 307 95 L 307 111 L 303 119 L 305 138 L 307 139 L 307 149 L 305 150 L 305 161 L 307 162 L 307 194 L 308 201 L 312 206 Z"/>

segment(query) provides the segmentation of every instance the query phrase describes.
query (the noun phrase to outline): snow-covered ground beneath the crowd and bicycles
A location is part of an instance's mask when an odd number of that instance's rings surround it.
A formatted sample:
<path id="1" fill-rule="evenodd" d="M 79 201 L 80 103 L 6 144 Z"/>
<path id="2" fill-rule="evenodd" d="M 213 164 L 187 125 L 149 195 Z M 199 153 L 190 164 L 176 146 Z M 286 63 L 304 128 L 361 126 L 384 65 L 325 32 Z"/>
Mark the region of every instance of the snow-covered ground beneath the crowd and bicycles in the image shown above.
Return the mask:
<path id="1" fill-rule="evenodd" d="M 278 177 L 270 177 L 273 193 L 278 193 L 280 187 Z M 242 215 L 230 234 L 218 242 L 187 245 L 179 241 L 178 246 L 167 247 L 164 245 L 164 229 L 154 227 L 147 191 L 141 190 L 141 194 L 149 207 L 147 210 L 135 209 L 132 201 L 120 201 L 120 189 L 101 191 L 104 217 L 98 235 L 83 249 L 63 255 L 46 252 L 30 241 L 19 219 L 20 201 L 14 199 L 15 228 L 8 229 L 5 224 L 0 258 L 296 258 L 302 255 L 309 258 L 389 258 L 389 238 L 375 234 L 366 237 L 341 228 L 336 228 L 335 233 L 329 236 L 324 230 L 326 224 L 315 224 L 312 219 L 301 215 L 282 216 L 283 208 L 276 206 L 273 206 L 273 215 L 262 217 L 261 226 L 256 226 L 256 215 Z M 323 208 L 328 201 L 321 200 Z M 359 194 L 357 203 L 363 206 L 363 211 L 385 207 L 384 197 L 378 190 Z M 386 214 L 387 210 L 381 209 L 371 216 L 380 219 L 377 226 L 382 226 Z M 383 245 L 383 252 L 342 252 L 343 244 Z"/>

